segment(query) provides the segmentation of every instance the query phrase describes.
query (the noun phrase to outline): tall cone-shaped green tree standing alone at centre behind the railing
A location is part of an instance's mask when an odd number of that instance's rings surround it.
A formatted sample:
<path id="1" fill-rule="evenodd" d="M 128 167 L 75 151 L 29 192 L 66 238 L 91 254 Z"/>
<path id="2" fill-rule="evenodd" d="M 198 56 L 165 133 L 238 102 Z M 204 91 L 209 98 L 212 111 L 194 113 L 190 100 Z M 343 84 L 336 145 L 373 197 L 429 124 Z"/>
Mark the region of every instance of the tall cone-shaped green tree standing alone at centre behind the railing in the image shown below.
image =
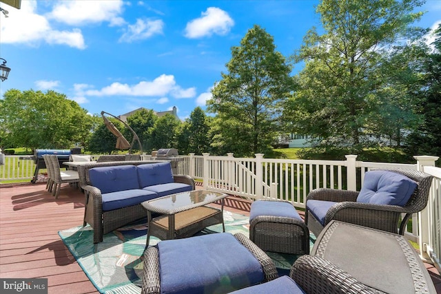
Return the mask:
<path id="1" fill-rule="evenodd" d="M 258 25 L 232 48 L 226 67 L 207 101 L 218 123 L 214 147 L 247 156 L 265 152 L 280 131 L 283 102 L 294 90 L 291 67 L 276 51 L 273 37 Z"/>

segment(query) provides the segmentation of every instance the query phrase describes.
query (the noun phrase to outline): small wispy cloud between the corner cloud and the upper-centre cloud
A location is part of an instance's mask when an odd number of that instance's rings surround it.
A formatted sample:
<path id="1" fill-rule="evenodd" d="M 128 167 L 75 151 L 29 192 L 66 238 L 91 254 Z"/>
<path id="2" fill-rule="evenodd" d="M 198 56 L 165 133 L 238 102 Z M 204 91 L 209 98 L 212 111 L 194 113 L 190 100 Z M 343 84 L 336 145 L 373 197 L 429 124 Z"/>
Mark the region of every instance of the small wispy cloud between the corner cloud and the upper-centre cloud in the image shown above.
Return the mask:
<path id="1" fill-rule="evenodd" d="M 133 41 L 150 38 L 154 34 L 163 33 L 164 22 L 161 19 L 156 21 L 150 19 L 136 19 L 134 25 L 128 25 L 125 33 L 119 39 L 120 42 L 131 43 Z"/>

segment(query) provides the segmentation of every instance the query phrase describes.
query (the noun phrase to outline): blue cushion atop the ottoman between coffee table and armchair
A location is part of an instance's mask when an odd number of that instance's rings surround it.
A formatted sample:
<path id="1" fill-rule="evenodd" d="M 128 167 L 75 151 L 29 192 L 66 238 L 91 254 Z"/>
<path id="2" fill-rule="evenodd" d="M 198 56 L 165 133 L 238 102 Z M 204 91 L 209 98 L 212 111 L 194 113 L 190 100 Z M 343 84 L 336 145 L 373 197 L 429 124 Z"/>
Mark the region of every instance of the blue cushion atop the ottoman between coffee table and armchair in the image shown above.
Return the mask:
<path id="1" fill-rule="evenodd" d="M 256 216 L 281 216 L 302 220 L 291 203 L 281 201 L 254 201 L 249 211 L 249 221 Z"/>

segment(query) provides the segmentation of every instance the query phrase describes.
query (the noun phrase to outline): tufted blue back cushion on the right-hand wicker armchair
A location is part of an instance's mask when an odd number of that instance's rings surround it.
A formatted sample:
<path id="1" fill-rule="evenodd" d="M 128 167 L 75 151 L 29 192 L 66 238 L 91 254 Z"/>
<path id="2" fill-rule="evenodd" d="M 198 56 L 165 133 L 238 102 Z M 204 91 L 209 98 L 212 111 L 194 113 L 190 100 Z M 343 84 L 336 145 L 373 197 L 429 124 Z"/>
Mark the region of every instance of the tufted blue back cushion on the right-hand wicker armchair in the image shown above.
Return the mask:
<path id="1" fill-rule="evenodd" d="M 357 202 L 404 206 L 417 184 L 402 174 L 392 171 L 368 171 Z"/>

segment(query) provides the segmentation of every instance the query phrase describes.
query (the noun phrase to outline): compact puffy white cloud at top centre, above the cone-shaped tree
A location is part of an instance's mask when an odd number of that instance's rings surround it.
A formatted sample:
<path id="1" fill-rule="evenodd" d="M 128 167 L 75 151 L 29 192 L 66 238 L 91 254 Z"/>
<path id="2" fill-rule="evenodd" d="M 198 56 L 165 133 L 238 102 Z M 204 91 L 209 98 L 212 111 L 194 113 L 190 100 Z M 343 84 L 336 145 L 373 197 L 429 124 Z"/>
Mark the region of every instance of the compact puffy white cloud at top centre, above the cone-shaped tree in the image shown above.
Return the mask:
<path id="1" fill-rule="evenodd" d="M 201 17 L 187 23 L 185 36 L 190 39 L 197 39 L 212 34 L 224 35 L 234 25 L 234 21 L 227 12 L 216 7 L 209 7 L 201 13 Z"/>

